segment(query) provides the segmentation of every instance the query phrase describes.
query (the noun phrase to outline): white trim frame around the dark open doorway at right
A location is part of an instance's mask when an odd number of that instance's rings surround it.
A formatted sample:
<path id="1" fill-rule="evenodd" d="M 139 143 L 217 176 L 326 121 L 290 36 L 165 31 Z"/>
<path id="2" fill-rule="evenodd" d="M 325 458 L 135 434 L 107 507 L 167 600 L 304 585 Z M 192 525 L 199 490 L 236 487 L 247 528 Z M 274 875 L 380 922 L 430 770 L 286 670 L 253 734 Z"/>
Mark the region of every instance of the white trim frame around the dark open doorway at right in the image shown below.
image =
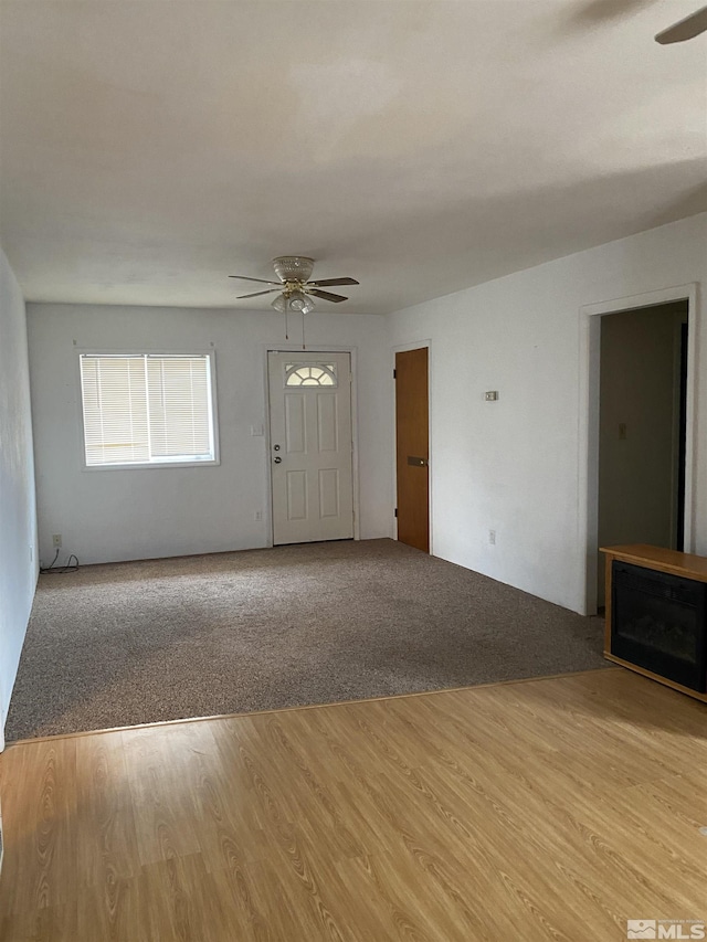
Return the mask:
<path id="1" fill-rule="evenodd" d="M 695 441 L 697 367 L 697 284 L 675 285 L 640 295 L 585 304 L 579 309 L 579 596 L 583 613 L 597 614 L 597 554 L 599 552 L 599 380 L 601 316 L 641 307 L 687 300 L 687 422 L 685 434 L 685 552 L 694 552 Z"/>

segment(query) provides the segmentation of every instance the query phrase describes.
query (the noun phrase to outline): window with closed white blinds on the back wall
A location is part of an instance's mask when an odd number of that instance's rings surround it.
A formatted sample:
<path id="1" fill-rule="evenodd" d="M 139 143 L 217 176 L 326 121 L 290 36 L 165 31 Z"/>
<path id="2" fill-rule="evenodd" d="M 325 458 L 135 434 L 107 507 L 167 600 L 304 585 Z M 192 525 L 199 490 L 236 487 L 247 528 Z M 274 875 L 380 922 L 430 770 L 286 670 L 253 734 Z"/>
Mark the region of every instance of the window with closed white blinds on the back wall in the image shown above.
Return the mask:
<path id="1" fill-rule="evenodd" d="M 211 356 L 81 356 L 87 467 L 215 462 Z"/>

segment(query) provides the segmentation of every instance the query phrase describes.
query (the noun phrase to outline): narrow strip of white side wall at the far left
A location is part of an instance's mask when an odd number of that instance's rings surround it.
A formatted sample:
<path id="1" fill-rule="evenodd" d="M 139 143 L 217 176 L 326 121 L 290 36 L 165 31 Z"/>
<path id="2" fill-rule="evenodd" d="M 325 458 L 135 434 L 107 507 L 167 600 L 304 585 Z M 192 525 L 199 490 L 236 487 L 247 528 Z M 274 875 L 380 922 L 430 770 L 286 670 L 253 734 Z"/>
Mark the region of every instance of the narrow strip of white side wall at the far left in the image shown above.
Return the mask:
<path id="1" fill-rule="evenodd" d="M 0 251 L 0 748 L 36 584 L 24 300 Z"/>

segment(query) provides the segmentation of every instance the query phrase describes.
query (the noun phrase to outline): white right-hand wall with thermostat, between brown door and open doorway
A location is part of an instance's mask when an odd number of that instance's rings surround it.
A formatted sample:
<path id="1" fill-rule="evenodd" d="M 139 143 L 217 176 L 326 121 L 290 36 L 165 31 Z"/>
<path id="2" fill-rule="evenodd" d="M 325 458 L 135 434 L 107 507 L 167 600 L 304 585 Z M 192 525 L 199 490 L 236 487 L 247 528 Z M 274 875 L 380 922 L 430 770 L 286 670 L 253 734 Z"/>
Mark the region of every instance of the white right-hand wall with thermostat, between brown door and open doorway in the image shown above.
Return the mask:
<path id="1" fill-rule="evenodd" d="M 584 610 L 580 309 L 693 282 L 707 284 L 705 213 L 392 315 L 393 347 L 431 340 L 436 555 Z M 707 554 L 704 290 L 698 299 L 693 549 Z"/>

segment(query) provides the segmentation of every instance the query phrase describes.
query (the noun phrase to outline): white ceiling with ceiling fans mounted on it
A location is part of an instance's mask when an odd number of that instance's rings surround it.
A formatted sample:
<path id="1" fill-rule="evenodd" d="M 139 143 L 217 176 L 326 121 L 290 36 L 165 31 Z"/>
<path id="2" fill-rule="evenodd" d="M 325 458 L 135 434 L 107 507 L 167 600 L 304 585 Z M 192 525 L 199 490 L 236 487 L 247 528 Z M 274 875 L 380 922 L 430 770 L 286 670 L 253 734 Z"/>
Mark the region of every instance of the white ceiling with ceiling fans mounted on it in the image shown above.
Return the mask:
<path id="1" fill-rule="evenodd" d="M 707 34 L 653 35 L 699 3 L 2 0 L 2 246 L 28 300 L 303 254 L 380 314 L 692 215 Z"/>

